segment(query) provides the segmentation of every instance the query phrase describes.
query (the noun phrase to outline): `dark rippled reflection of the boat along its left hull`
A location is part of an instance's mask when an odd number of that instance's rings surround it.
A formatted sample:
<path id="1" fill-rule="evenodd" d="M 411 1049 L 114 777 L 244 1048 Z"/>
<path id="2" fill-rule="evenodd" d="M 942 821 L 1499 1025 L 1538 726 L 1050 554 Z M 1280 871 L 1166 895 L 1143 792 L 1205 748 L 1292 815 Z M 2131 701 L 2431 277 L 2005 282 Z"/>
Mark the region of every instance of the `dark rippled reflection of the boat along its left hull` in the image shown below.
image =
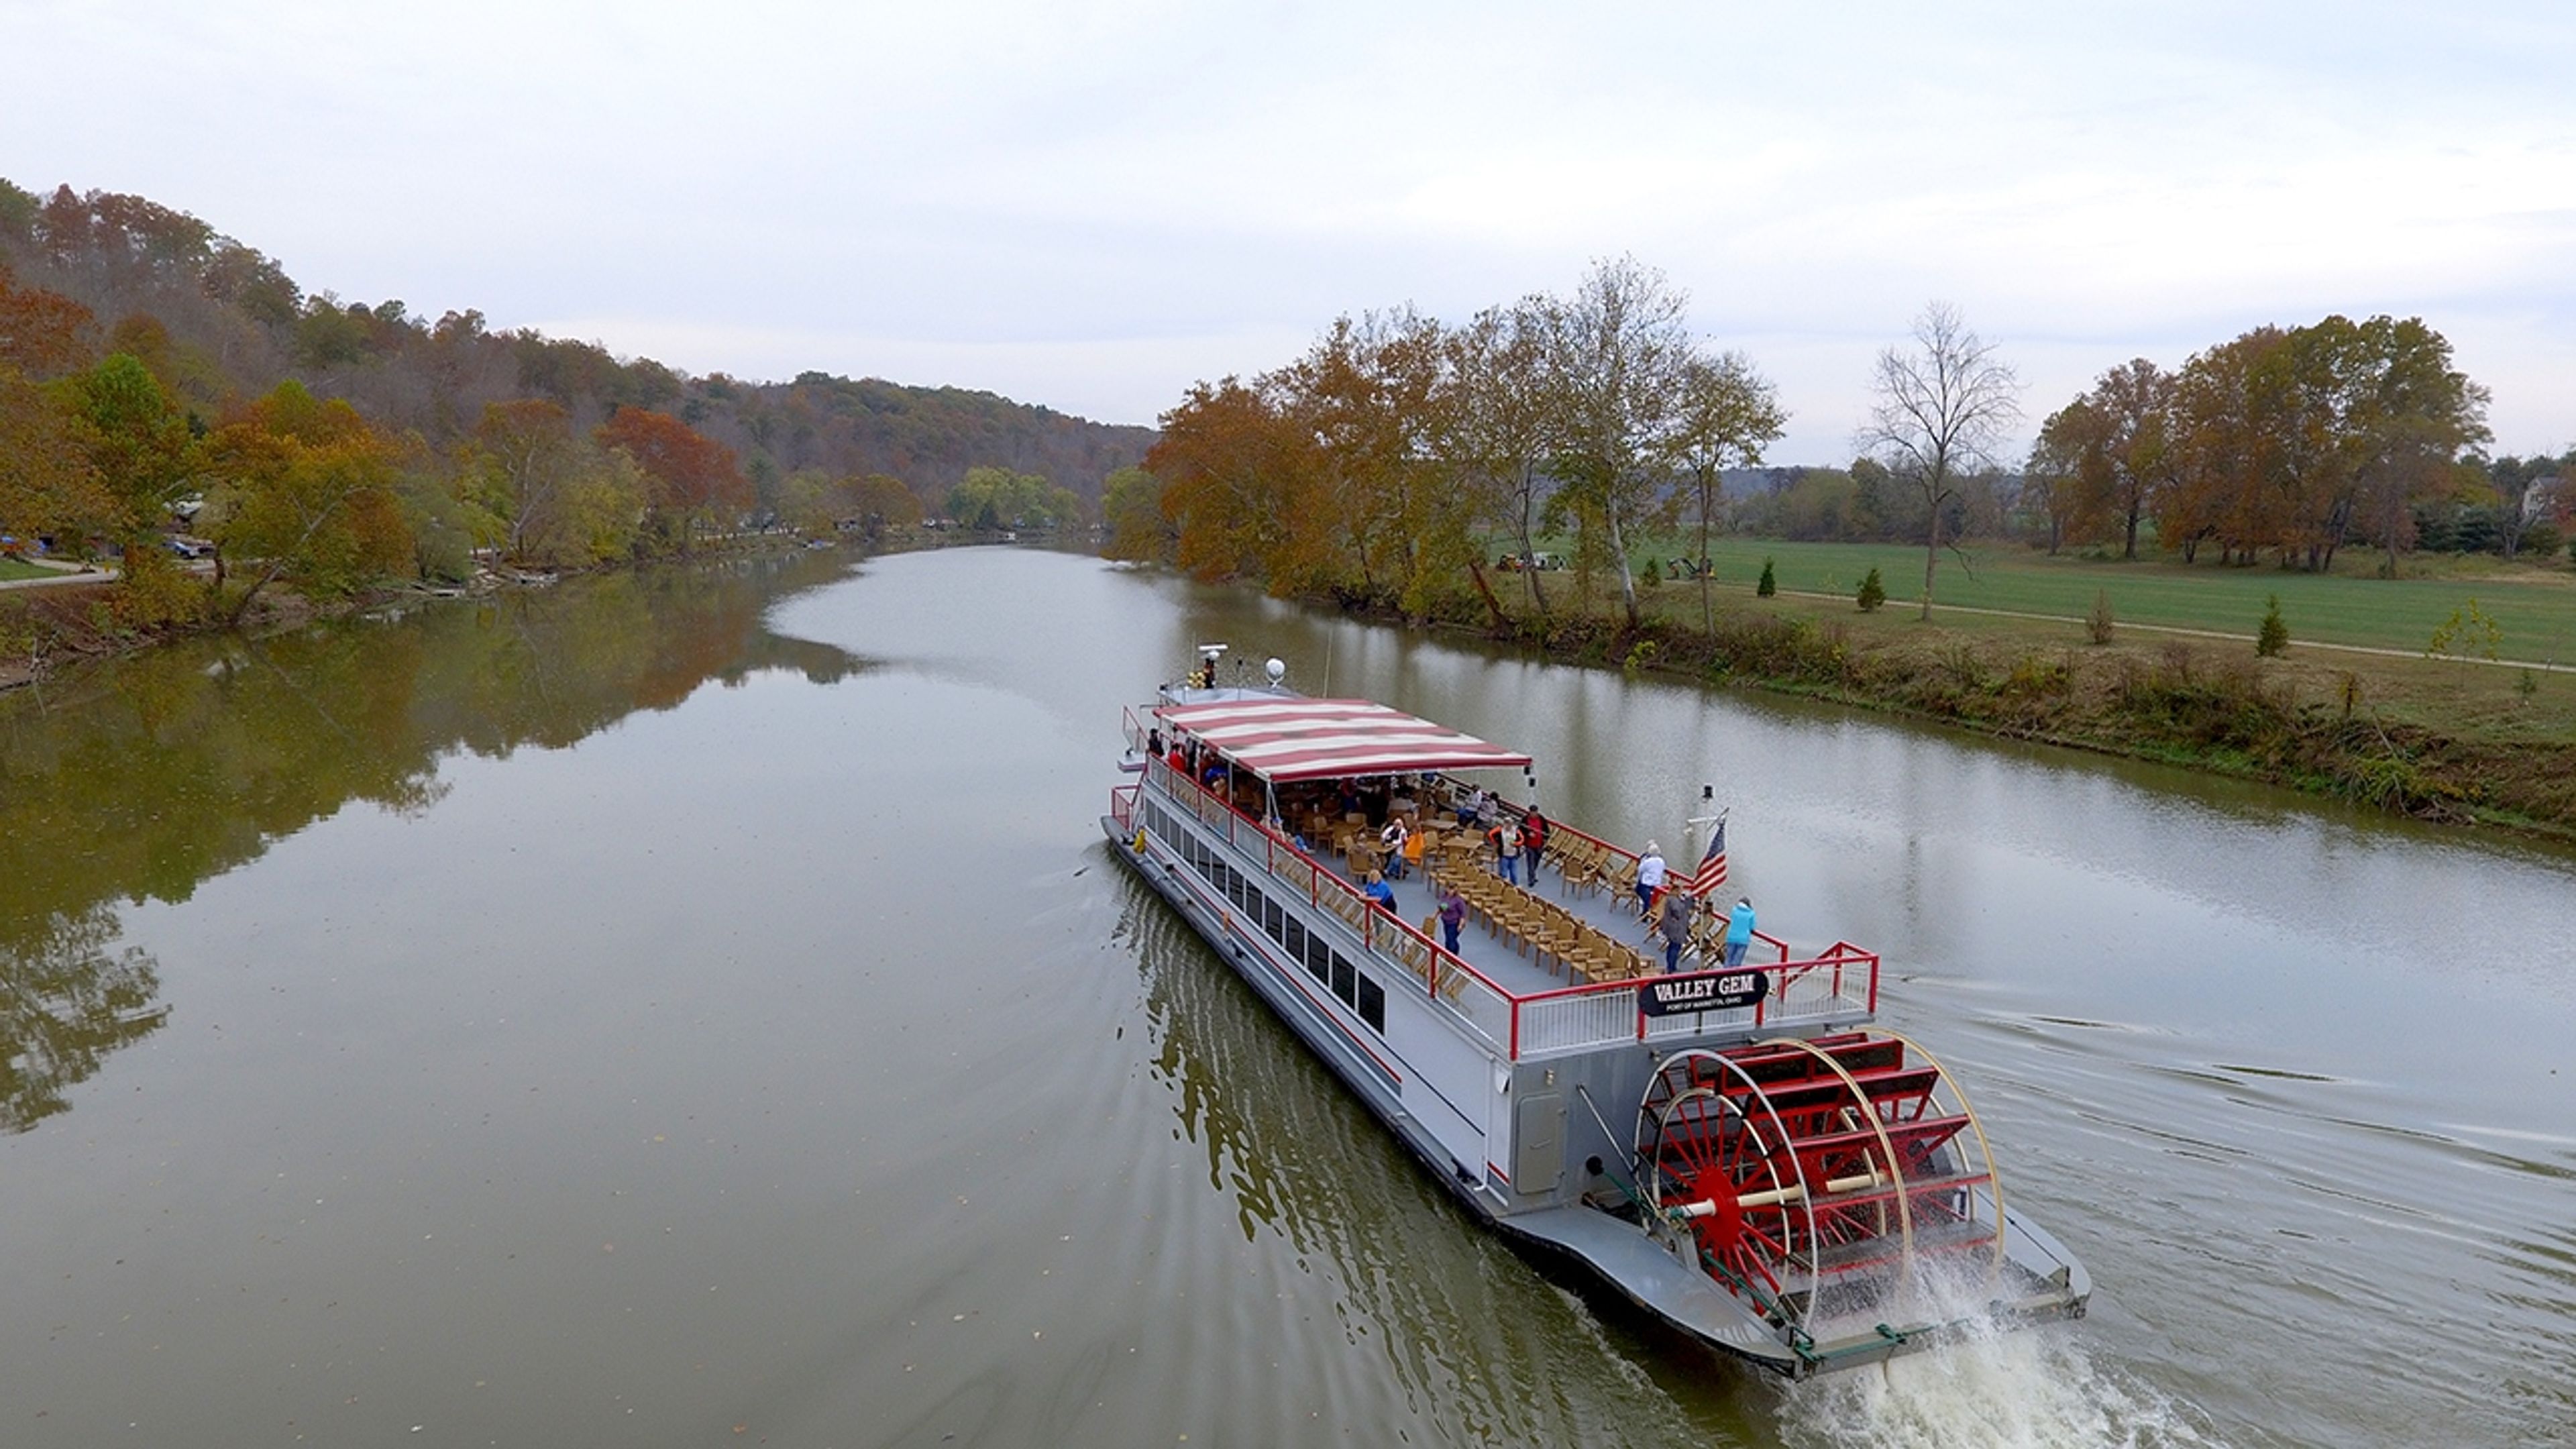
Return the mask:
<path id="1" fill-rule="evenodd" d="M 1231 1196 L 1244 1238 L 1270 1230 L 1329 1266 L 1345 1325 L 1378 1328 L 1406 1395 L 1471 1444 L 1739 1441 L 1741 1410 L 1723 1397 L 1641 1392 L 1662 1364 L 1641 1372 L 1618 1346 L 1625 1330 L 1605 1341 L 1450 1204 L 1162 897 L 1133 879 L 1123 897 L 1151 1067 L 1208 1155 L 1208 1189 Z"/>

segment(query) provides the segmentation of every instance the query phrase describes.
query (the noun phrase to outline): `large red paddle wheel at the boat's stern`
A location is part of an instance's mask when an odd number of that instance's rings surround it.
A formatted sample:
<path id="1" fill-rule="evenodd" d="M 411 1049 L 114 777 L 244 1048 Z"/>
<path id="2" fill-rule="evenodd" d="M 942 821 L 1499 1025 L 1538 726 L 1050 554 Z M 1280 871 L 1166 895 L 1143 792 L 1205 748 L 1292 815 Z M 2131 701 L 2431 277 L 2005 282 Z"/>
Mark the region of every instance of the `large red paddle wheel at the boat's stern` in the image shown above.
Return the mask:
<path id="1" fill-rule="evenodd" d="M 2004 1261 L 1986 1134 L 1950 1073 L 1891 1031 L 1664 1057 L 1636 1168 L 1667 1240 L 1780 1328 L 1886 1312 L 1924 1269 Z"/>

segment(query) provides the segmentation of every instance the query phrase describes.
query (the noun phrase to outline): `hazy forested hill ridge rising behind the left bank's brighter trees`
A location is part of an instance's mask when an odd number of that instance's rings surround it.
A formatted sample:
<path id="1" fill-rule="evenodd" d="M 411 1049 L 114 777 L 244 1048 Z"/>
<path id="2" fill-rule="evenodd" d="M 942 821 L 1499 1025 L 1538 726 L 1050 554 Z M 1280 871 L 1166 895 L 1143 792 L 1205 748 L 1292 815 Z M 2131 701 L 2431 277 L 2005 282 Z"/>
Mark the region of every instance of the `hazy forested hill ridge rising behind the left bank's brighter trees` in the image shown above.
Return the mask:
<path id="1" fill-rule="evenodd" d="M 345 302 L 307 291 L 209 222 L 108 191 L 36 196 L 0 180 L 0 286 L 85 309 L 62 369 L 134 353 L 201 428 L 281 382 L 348 400 L 368 423 L 433 449 L 471 438 L 484 407 L 500 402 L 554 402 L 572 433 L 641 407 L 732 449 L 765 508 L 781 505 L 796 472 L 889 474 L 938 508 L 971 467 L 1043 474 L 1097 503 L 1103 477 L 1154 441 L 1151 428 L 989 392 L 819 371 L 793 382 L 693 376 L 598 343 L 492 330 L 471 309 L 430 320 L 399 299 Z"/>

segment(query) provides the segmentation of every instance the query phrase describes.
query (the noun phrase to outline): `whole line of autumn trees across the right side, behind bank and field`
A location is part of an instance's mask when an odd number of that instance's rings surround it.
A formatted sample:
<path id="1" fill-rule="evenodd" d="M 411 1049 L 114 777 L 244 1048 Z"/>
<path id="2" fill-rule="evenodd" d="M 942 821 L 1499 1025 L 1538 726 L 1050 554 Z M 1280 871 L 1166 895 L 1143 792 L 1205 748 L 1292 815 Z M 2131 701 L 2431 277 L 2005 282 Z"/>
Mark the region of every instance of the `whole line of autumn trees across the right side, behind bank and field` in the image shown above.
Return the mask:
<path id="1" fill-rule="evenodd" d="M 2576 451 L 2483 459 L 2486 389 L 2414 317 L 2257 327 L 2177 371 L 2123 364 L 2050 413 L 2007 472 L 2022 384 L 1947 304 L 1878 356 L 1847 469 L 1762 469 L 1785 413 L 1741 353 L 1685 330 L 1685 304 L 1659 271 L 1620 258 L 1566 297 L 1463 325 L 1414 309 L 1342 317 L 1275 371 L 1190 387 L 1144 467 L 1108 480 L 1108 552 L 1504 621 L 1486 539 L 1530 557 L 1540 536 L 1571 536 L 1579 580 L 1610 570 L 1633 627 L 1628 559 L 1674 529 L 1698 529 L 1682 547 L 1703 557 L 1718 526 L 1909 539 L 1924 547 L 1929 611 L 1942 549 L 1963 536 L 2306 570 L 2360 541 L 2393 567 L 2419 541 L 2512 554 L 2524 498 L 2576 480 Z M 1520 580 L 1546 619 L 1546 572 Z M 1700 593 L 1705 624 L 1705 572 Z"/>

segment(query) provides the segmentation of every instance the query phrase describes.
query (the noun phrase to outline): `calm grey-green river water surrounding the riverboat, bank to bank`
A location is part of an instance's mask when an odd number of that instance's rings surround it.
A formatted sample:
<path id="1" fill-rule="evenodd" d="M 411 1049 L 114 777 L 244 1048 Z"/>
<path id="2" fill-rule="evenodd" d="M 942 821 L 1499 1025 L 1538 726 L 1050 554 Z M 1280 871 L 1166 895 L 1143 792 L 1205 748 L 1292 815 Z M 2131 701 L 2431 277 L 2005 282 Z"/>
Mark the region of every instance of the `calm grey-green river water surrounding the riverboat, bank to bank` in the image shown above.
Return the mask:
<path id="1" fill-rule="evenodd" d="M 2089 1320 L 1780 1387 L 1476 1232 L 1103 848 L 1198 639 L 1891 964 Z M 2576 1444 L 2576 859 L 1092 559 L 0 699 L 0 1444 Z"/>

